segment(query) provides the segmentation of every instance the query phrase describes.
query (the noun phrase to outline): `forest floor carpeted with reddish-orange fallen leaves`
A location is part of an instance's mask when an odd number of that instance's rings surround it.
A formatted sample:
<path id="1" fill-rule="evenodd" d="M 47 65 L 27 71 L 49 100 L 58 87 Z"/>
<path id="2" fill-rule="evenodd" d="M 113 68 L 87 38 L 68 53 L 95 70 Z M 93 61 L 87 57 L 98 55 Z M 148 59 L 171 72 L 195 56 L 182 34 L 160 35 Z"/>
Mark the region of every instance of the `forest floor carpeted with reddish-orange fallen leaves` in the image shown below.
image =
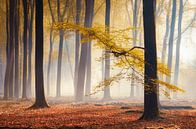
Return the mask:
<path id="1" fill-rule="evenodd" d="M 32 100 L 0 101 L 0 128 L 59 129 L 196 129 L 196 102 L 163 102 L 162 119 L 138 120 L 141 102 L 63 102 L 49 100 L 50 108 L 28 109 Z M 180 105 L 180 106 L 179 106 Z M 187 106 L 188 105 L 188 106 Z"/>

